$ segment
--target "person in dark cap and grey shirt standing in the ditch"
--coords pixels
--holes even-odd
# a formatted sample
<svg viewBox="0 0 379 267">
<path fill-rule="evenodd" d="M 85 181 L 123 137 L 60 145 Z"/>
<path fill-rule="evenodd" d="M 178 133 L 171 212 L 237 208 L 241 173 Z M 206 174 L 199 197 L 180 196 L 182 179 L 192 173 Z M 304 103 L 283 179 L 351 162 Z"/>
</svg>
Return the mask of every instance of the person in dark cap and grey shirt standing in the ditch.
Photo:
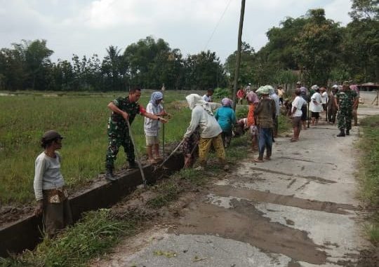
<svg viewBox="0 0 379 267">
<path fill-rule="evenodd" d="M 44 151 L 35 161 L 34 194 L 37 206 L 34 214 L 42 214 L 44 231 L 49 237 L 54 236 L 65 226 L 72 224 L 71 208 L 65 190 L 65 180 L 60 172 L 63 137 L 54 130 L 44 133 L 41 146 Z"/>
</svg>

